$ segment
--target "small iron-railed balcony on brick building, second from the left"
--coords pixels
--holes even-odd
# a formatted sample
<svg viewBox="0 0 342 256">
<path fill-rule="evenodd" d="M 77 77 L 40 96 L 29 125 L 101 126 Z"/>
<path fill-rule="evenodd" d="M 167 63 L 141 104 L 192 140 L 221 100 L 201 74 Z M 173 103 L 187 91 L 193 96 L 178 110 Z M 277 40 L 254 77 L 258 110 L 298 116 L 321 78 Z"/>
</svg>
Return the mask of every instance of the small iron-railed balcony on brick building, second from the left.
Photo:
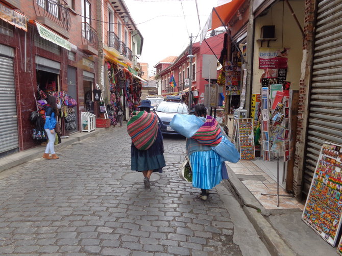
<svg viewBox="0 0 342 256">
<path fill-rule="evenodd" d="M 99 39 L 97 38 L 96 30 L 89 23 L 82 22 L 82 49 L 83 52 L 89 55 L 97 55 L 99 48 Z"/>
</svg>

